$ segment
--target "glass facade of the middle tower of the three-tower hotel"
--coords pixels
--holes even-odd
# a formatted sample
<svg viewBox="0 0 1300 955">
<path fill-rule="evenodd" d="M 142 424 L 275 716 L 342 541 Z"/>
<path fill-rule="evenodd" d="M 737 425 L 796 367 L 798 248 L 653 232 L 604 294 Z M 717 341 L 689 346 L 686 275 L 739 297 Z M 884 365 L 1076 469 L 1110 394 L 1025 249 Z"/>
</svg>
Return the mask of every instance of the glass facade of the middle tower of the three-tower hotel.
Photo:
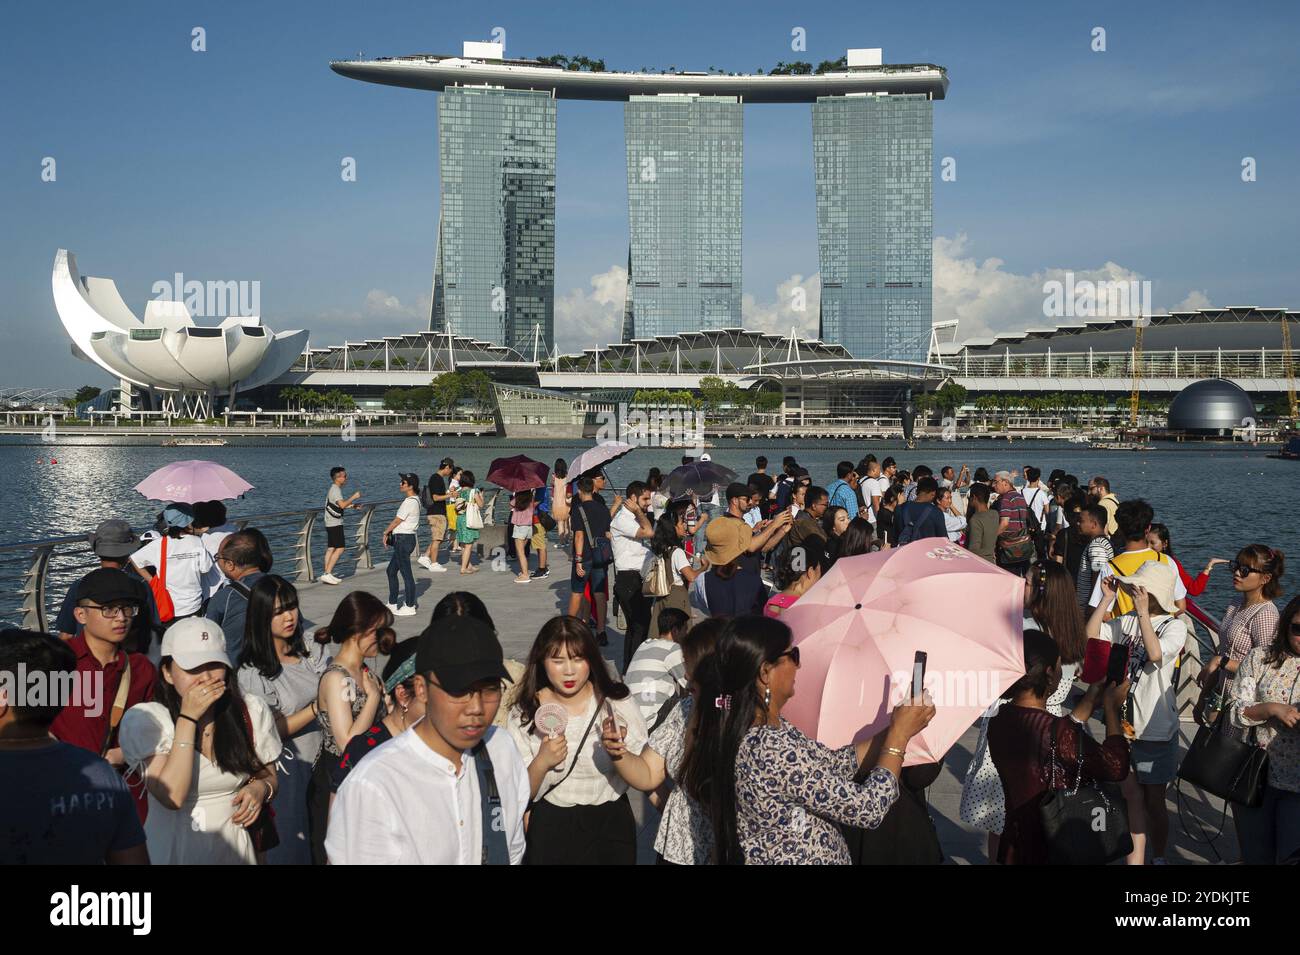
<svg viewBox="0 0 1300 955">
<path fill-rule="evenodd" d="M 740 327 L 744 105 L 630 96 L 623 340 Z"/>
</svg>

